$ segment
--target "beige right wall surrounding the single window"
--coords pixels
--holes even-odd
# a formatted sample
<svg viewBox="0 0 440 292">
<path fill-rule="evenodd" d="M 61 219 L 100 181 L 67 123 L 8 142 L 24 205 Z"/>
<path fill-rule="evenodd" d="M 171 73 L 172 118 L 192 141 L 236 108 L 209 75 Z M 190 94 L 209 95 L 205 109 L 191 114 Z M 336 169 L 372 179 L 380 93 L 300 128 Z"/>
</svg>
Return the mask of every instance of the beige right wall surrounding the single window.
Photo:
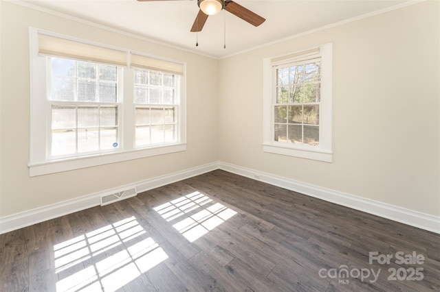
<svg viewBox="0 0 440 292">
<path fill-rule="evenodd" d="M 221 60 L 219 158 L 440 215 L 439 1 Z M 263 58 L 333 43 L 333 163 L 264 153 Z"/>
</svg>

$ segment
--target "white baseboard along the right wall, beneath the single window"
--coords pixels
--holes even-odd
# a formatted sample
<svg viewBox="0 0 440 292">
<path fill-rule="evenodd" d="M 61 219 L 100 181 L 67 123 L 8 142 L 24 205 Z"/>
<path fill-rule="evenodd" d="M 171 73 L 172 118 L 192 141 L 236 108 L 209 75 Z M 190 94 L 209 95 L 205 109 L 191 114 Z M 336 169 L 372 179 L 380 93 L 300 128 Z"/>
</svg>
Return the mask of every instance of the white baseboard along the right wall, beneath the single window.
<svg viewBox="0 0 440 292">
<path fill-rule="evenodd" d="M 219 169 L 440 234 L 440 217 L 377 202 L 372 199 L 365 199 L 363 197 L 333 191 L 321 186 L 290 180 L 254 169 L 231 165 L 225 162 L 219 162 Z"/>
</svg>

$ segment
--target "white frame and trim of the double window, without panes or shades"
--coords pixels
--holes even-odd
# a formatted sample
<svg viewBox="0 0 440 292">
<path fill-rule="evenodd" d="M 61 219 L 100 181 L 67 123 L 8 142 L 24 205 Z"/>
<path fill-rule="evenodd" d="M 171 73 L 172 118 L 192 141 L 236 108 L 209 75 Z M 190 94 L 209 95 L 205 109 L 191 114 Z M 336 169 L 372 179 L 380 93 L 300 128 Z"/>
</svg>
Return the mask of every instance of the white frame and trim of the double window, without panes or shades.
<svg viewBox="0 0 440 292">
<path fill-rule="evenodd" d="M 114 151 L 102 151 L 95 154 L 85 154 L 74 157 L 49 159 L 50 147 L 50 101 L 47 97 L 50 92 L 50 73 L 47 68 L 47 58 L 39 56 L 39 34 L 46 34 L 75 42 L 83 42 L 89 45 L 102 46 L 109 49 L 125 51 L 127 54 L 127 66 L 118 66 L 118 119 L 119 119 L 119 147 Z M 177 140 L 175 143 L 156 144 L 147 147 L 135 147 L 135 108 L 134 108 L 134 68 L 130 66 L 129 56 L 135 53 L 137 56 L 145 56 L 159 62 L 175 63 L 183 67 L 183 74 L 180 75 L 179 100 L 177 101 L 176 117 Z M 56 57 L 56 56 L 55 56 Z M 65 57 L 58 57 L 65 58 Z M 80 60 L 80 59 L 77 59 Z M 84 60 L 80 60 L 84 61 Z M 94 61 L 95 62 L 95 61 Z M 99 62 L 98 62 L 99 63 Z M 108 63 L 103 63 L 108 64 Z M 122 69 L 121 69 L 122 68 Z M 120 73 L 122 72 L 122 73 Z M 166 72 L 166 71 L 164 71 Z M 167 72 L 168 73 L 168 72 Z M 113 149 L 111 149 L 113 150 Z M 149 156 L 170 154 L 178 151 L 186 151 L 186 64 L 175 60 L 149 56 L 140 52 L 133 52 L 129 49 L 110 47 L 89 40 L 72 38 L 69 36 L 46 32 L 41 29 L 30 27 L 30 157 L 28 162 L 30 177 L 83 169 L 98 165 L 106 165 L 114 162 L 122 162 Z"/>
</svg>

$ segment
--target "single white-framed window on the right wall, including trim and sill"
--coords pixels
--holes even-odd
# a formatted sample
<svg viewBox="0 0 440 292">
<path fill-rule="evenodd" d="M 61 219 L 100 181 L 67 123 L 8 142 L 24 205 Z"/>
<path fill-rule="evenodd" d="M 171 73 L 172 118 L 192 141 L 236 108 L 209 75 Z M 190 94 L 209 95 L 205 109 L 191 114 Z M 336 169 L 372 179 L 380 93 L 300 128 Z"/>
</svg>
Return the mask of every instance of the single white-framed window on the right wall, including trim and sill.
<svg viewBox="0 0 440 292">
<path fill-rule="evenodd" d="M 263 151 L 331 162 L 331 44 L 264 60 Z"/>
</svg>

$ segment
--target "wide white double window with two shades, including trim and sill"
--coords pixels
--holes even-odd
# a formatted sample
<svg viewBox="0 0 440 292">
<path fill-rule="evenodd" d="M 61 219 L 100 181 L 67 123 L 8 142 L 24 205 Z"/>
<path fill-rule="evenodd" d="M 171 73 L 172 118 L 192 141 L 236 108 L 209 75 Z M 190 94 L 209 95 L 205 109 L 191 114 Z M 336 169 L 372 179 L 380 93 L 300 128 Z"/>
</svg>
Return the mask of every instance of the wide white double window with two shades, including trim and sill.
<svg viewBox="0 0 440 292">
<path fill-rule="evenodd" d="M 186 149 L 184 64 L 30 29 L 30 175 Z"/>
</svg>

